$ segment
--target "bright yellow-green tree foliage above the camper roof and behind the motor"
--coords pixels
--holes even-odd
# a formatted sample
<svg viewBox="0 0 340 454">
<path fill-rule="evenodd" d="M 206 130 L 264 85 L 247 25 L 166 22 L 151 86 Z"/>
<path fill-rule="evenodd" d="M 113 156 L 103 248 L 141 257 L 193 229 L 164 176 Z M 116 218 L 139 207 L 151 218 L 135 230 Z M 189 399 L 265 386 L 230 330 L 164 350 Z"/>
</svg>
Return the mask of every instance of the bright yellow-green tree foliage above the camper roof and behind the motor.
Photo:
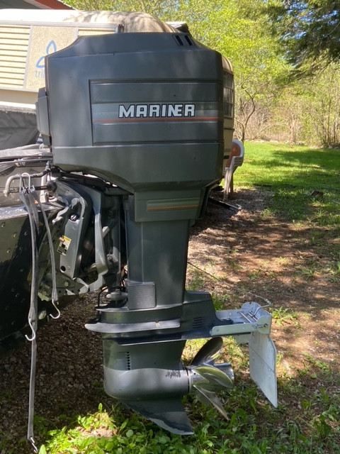
<svg viewBox="0 0 340 454">
<path fill-rule="evenodd" d="M 262 13 L 266 0 L 69 0 L 79 9 L 145 11 L 164 21 L 186 21 L 196 40 L 228 57 L 235 75 L 235 129 L 244 140 L 250 123 L 266 127 L 287 72 Z M 254 122 L 256 117 L 256 122 Z"/>
</svg>

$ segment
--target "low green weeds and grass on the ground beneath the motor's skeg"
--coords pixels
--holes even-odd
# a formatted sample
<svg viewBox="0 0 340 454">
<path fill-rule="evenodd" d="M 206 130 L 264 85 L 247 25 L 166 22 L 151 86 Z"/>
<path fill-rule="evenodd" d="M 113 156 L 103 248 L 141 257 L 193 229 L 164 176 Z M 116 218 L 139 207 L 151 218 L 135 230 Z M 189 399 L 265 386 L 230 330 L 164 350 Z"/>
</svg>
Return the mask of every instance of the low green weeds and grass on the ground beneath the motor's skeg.
<svg viewBox="0 0 340 454">
<path fill-rule="evenodd" d="M 288 384 L 285 395 L 294 386 L 295 382 Z M 300 395 L 298 419 L 289 405 L 275 410 L 261 402 L 256 387 L 249 384 L 244 389 L 235 388 L 224 398 L 228 421 L 217 416 L 214 409 L 186 397 L 184 404 L 191 406 L 195 426 L 191 437 L 166 433 L 140 416 L 127 417 L 120 406 L 115 406 L 110 413 L 101 410 L 79 416 L 73 426 L 51 431 L 40 454 L 339 453 L 339 397 L 331 399 L 326 389 Z"/>
</svg>

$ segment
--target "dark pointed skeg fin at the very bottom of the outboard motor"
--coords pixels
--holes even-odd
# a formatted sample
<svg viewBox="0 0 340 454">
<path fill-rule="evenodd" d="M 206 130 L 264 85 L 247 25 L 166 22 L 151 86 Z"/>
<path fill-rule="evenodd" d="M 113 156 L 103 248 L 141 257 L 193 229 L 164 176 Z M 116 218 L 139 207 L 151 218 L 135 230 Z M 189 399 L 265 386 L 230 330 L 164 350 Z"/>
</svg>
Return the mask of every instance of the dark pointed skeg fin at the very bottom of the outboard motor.
<svg viewBox="0 0 340 454">
<path fill-rule="evenodd" d="M 180 400 L 175 398 L 124 402 L 130 409 L 177 435 L 192 435 L 193 428 Z"/>
</svg>

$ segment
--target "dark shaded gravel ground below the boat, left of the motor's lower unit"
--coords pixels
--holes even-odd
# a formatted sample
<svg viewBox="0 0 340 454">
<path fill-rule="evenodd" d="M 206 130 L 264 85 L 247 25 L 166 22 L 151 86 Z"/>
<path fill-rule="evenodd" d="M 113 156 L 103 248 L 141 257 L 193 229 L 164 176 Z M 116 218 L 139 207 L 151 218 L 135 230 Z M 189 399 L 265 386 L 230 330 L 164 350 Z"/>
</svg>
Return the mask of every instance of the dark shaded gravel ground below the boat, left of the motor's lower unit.
<svg viewBox="0 0 340 454">
<path fill-rule="evenodd" d="M 110 398 L 102 389 L 101 337 L 84 328 L 94 317 L 95 304 L 94 297 L 79 298 L 63 309 L 60 319 L 51 320 L 38 331 L 36 425 L 46 423 L 51 430 L 61 414 L 69 421 L 96 411 L 103 399 L 109 404 Z M 0 453 L 30 453 L 25 443 L 30 343 L 1 357 L 0 370 L 0 442 L 1 438 L 8 441 Z"/>
</svg>

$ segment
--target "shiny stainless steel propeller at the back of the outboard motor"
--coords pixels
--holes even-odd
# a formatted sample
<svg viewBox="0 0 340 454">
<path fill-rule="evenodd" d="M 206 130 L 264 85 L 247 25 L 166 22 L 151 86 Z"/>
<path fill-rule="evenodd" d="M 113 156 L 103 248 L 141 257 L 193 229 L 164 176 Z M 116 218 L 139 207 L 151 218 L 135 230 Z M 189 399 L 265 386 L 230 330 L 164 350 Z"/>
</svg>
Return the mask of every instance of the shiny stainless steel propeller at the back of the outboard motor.
<svg viewBox="0 0 340 454">
<path fill-rule="evenodd" d="M 196 392 L 200 402 L 215 406 L 227 419 L 227 413 L 216 393 L 234 387 L 234 372 L 229 362 L 215 363 L 222 345 L 222 338 L 210 339 L 196 353 L 187 370 L 191 389 Z"/>
</svg>

